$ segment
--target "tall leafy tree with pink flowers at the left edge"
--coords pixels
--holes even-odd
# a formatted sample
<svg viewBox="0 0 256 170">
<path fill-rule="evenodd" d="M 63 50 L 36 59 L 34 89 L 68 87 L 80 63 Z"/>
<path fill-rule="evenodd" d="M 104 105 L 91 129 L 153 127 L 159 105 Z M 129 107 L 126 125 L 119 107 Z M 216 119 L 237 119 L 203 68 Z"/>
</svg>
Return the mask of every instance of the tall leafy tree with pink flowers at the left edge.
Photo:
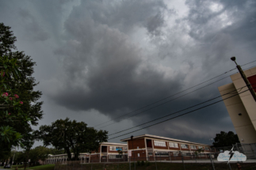
<svg viewBox="0 0 256 170">
<path fill-rule="evenodd" d="M 0 97 L 9 102 L 5 103 L 9 104 L 7 108 L 0 109 L 0 127 L 2 127 L 0 132 L 5 137 L 0 140 L 0 150 L 4 149 L 6 152 L 10 152 L 11 147 L 25 142 L 26 138 L 23 138 L 23 135 L 31 133 L 31 125 L 36 126 L 43 116 L 41 111 L 43 102 L 38 102 L 42 93 L 33 89 L 38 84 L 32 77 L 33 66 L 36 63 L 32 62 L 23 51 L 16 51 L 15 41 L 16 37 L 13 36 L 10 27 L 0 23 L 0 67 L 1 77 L 4 77 L 1 78 Z M 15 101 L 10 100 L 10 94 L 12 99 L 18 94 Z M 21 103 L 17 105 L 17 102 Z M 17 134 L 19 134 L 18 138 Z M 14 137 L 18 140 L 13 140 Z"/>
</svg>

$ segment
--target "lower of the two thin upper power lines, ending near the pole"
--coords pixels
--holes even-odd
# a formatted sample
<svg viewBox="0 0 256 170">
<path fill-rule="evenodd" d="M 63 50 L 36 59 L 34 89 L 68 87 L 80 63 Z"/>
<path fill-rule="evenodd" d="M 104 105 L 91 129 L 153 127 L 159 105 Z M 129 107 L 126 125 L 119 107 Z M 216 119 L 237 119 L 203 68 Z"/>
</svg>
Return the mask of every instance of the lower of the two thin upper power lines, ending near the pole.
<svg viewBox="0 0 256 170">
<path fill-rule="evenodd" d="M 227 77 L 230 77 L 230 76 L 227 76 Z M 218 81 L 222 81 L 222 80 L 224 80 L 224 79 L 227 78 L 227 77 L 221 78 L 221 79 L 218 80 Z M 208 85 L 212 85 L 212 84 L 214 84 L 214 83 L 216 83 L 216 82 L 218 82 L 218 81 L 214 81 L 214 82 L 212 82 L 212 83 L 210 83 L 210 84 L 208 84 Z M 190 93 L 194 93 L 194 92 L 196 92 L 197 90 L 200 90 L 200 89 L 203 89 L 204 87 L 207 87 L 208 85 L 204 85 L 203 87 L 201 87 L 201 88 L 199 88 L 199 89 L 195 89 L 195 90 L 193 90 L 192 92 L 185 93 L 184 95 L 178 96 L 178 97 L 176 97 L 176 98 L 174 98 L 174 99 L 172 99 L 172 100 L 167 100 L 167 101 L 163 102 L 162 104 L 158 104 L 158 105 L 156 105 L 156 106 L 154 106 L 154 107 L 152 107 L 152 108 L 148 108 L 147 110 L 140 111 L 139 113 L 136 113 L 135 115 L 139 115 L 140 113 L 149 111 L 149 110 L 151 110 L 151 109 L 153 109 L 153 108 L 158 108 L 159 106 L 162 106 L 163 104 L 167 104 L 167 103 L 169 103 L 169 102 L 171 102 L 171 101 L 173 101 L 173 100 L 177 100 L 177 99 L 181 98 L 182 96 L 186 96 L 186 95 L 188 95 L 188 94 L 190 94 Z M 124 119 L 129 119 L 129 118 L 131 118 L 131 117 L 133 117 L 133 116 L 135 116 L 135 115 L 131 115 L 131 116 L 129 116 L 128 118 L 124 118 Z M 120 121 L 121 121 L 121 120 L 123 120 L 123 119 L 120 119 Z M 106 125 L 106 126 L 104 126 L 104 127 L 109 127 L 110 125 L 113 125 L 113 124 L 115 124 L 115 123 L 117 123 L 117 122 L 108 124 L 108 125 Z M 103 127 L 100 127 L 100 129 L 101 129 L 101 128 L 103 128 Z"/>
</svg>

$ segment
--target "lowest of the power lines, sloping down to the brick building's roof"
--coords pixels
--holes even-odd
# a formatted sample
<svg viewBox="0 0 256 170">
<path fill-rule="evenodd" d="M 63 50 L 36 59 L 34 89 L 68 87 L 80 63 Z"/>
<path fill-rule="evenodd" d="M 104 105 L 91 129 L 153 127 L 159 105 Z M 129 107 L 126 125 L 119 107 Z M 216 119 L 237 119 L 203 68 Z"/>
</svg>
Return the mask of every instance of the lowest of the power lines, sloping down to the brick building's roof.
<svg viewBox="0 0 256 170">
<path fill-rule="evenodd" d="M 249 89 L 243 91 L 242 93 L 245 93 L 245 92 L 248 91 L 248 90 L 249 90 Z M 233 95 L 233 96 L 237 96 L 237 95 L 239 95 L 239 94 L 241 94 L 241 93 L 235 94 L 235 95 Z M 227 100 L 227 99 L 229 99 L 229 98 L 231 98 L 231 97 L 233 97 L 233 96 L 229 96 L 229 97 L 227 97 L 226 99 L 223 99 L 223 100 L 218 100 L 218 101 L 216 101 L 216 102 L 214 102 L 214 103 L 212 103 L 212 104 L 208 104 L 208 105 L 203 106 L 203 107 L 201 107 L 201 108 L 197 108 L 197 109 L 195 109 L 195 110 L 193 110 L 193 111 L 198 111 L 198 110 L 201 110 L 202 108 L 207 108 L 208 106 L 211 106 L 211 105 L 213 105 L 213 104 L 217 104 L 217 103 L 219 103 L 220 101 Z M 182 115 L 187 115 L 187 114 L 189 114 L 189 113 L 192 113 L 193 111 L 185 112 L 185 113 L 183 113 L 183 114 L 181 114 L 181 115 L 177 115 L 177 116 L 175 116 L 175 117 L 173 117 L 173 118 L 170 118 L 170 119 L 176 119 L 176 118 L 178 118 L 178 117 L 180 117 L 180 116 L 182 116 Z M 149 125 L 149 126 L 147 126 L 147 127 L 153 127 L 153 126 L 155 126 L 155 125 L 157 125 L 157 124 L 164 123 L 164 122 L 166 122 L 166 121 L 168 121 L 168 120 L 170 120 L 170 119 L 163 120 L 163 121 L 161 121 L 161 122 L 159 122 L 159 123 L 155 123 L 155 124 Z M 133 130 L 133 131 L 128 132 L 128 133 L 126 133 L 126 134 L 132 134 L 133 132 L 146 129 L 147 127 L 142 127 L 142 128 L 140 128 L 140 129 L 138 129 L 138 130 Z M 126 134 L 121 134 L 121 135 L 119 135 L 119 136 L 117 136 L 117 137 L 114 137 L 114 138 L 119 138 L 119 137 L 124 136 L 124 135 L 126 135 Z M 109 140 L 111 140 L 111 139 L 113 139 L 113 138 L 109 138 Z"/>
</svg>

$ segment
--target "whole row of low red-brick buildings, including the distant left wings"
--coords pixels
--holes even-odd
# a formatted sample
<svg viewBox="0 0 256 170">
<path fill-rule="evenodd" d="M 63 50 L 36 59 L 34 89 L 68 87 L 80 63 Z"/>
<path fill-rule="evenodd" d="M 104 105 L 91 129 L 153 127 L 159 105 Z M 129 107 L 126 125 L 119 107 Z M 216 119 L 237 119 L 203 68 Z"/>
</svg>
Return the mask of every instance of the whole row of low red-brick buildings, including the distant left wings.
<svg viewBox="0 0 256 170">
<path fill-rule="evenodd" d="M 215 153 L 211 145 L 182 141 L 174 138 L 165 138 L 151 134 L 143 134 L 133 138 L 120 140 L 126 143 L 103 142 L 97 152 L 80 153 L 81 163 L 94 162 L 124 162 L 124 161 L 171 161 L 194 159 L 198 149 L 203 153 L 198 153 L 197 158 L 209 157 L 209 153 Z M 128 157 L 128 151 L 132 157 Z M 72 157 L 74 155 L 72 154 Z M 49 155 L 42 164 L 55 164 L 56 162 L 67 163 L 67 154 Z"/>
</svg>

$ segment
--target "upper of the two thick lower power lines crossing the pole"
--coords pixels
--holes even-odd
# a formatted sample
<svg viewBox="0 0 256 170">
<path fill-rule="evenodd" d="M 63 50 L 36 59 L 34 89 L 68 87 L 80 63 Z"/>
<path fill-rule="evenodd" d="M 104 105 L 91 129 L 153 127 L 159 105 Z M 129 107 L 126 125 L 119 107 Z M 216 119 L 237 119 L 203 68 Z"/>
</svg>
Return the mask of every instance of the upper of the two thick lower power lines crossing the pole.
<svg viewBox="0 0 256 170">
<path fill-rule="evenodd" d="M 243 88 L 245 88 L 245 87 L 246 87 L 246 85 L 243 86 L 242 88 L 239 88 L 239 92 L 240 92 Z M 235 90 L 233 90 L 233 91 L 231 91 L 231 92 L 229 92 L 229 93 L 225 93 L 224 95 L 220 95 L 220 96 L 225 96 L 225 95 L 227 95 L 227 94 L 234 94 L 233 92 L 237 92 L 237 89 L 235 89 Z M 204 101 L 204 102 L 201 102 L 200 104 L 195 104 L 195 105 L 193 105 L 193 106 L 191 106 L 191 107 L 189 107 L 189 108 L 194 108 L 194 107 L 199 106 L 199 105 L 201 105 L 201 104 L 205 104 L 205 103 L 207 103 L 207 102 L 209 102 L 209 101 L 211 101 L 211 100 L 216 100 L 216 99 L 219 98 L 220 96 L 216 96 L 216 97 L 214 97 L 214 98 L 212 98 L 212 99 L 210 99 L 210 100 L 206 100 L 206 101 Z M 168 116 L 170 116 L 170 115 L 177 114 L 177 113 L 179 113 L 179 112 L 181 112 L 181 111 L 188 110 L 189 108 L 185 108 L 185 109 L 182 109 L 182 110 L 180 110 L 180 111 L 175 111 L 174 113 L 170 113 L 169 115 L 164 115 L 164 116 L 162 116 L 162 117 L 160 117 L 160 118 L 153 119 L 153 120 L 151 120 L 151 121 L 149 121 L 149 122 L 147 122 L 147 123 L 155 122 L 156 120 L 163 119 L 163 118 L 168 117 Z M 142 126 L 142 125 L 144 125 L 144 124 L 147 124 L 147 123 L 142 123 L 142 124 L 136 125 L 135 127 L 140 127 L 140 126 Z M 118 131 L 118 132 L 116 132 L 116 133 L 113 133 L 113 134 L 119 134 L 119 133 L 121 133 L 121 132 L 123 132 L 123 131 L 131 130 L 131 129 L 135 128 L 135 127 L 130 127 L 130 128 L 128 128 L 128 129 L 125 129 L 125 130 L 120 130 L 120 131 Z M 111 135 L 113 135 L 113 134 L 109 134 L 108 136 L 111 136 Z"/>
</svg>

